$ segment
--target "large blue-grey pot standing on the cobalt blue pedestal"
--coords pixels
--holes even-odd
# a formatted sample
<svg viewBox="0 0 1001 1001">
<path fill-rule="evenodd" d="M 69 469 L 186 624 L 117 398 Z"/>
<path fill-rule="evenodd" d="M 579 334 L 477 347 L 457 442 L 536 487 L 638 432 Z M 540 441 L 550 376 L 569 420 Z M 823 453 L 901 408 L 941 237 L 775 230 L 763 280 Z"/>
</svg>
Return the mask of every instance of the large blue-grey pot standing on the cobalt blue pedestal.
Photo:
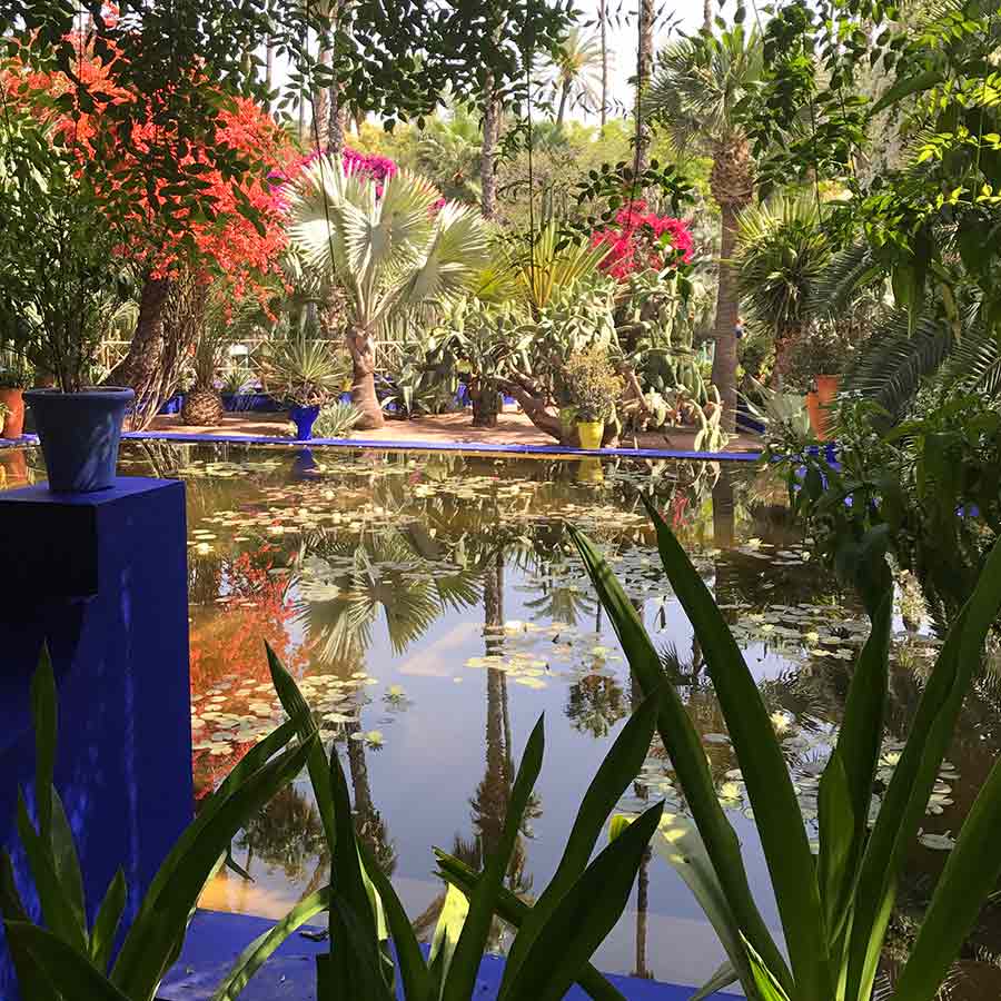
<svg viewBox="0 0 1001 1001">
<path fill-rule="evenodd" d="M 118 446 L 132 389 L 29 389 L 24 403 L 34 415 L 49 473 L 57 494 L 92 494 L 115 482 Z"/>
</svg>

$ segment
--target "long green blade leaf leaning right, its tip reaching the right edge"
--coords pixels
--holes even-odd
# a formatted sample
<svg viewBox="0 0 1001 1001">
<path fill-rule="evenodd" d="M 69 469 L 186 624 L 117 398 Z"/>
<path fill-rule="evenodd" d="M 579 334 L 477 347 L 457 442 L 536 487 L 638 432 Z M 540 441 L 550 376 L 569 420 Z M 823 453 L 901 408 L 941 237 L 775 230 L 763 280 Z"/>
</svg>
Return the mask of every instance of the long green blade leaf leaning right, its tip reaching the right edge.
<svg viewBox="0 0 1001 1001">
<path fill-rule="evenodd" d="M 914 844 L 963 697 L 981 663 L 984 640 L 999 612 L 1001 544 L 995 544 L 973 594 L 949 630 L 924 686 L 911 736 L 894 769 L 862 858 L 852 918 L 846 997 L 864 997 L 864 992 L 872 990 L 901 869 Z"/>
</svg>

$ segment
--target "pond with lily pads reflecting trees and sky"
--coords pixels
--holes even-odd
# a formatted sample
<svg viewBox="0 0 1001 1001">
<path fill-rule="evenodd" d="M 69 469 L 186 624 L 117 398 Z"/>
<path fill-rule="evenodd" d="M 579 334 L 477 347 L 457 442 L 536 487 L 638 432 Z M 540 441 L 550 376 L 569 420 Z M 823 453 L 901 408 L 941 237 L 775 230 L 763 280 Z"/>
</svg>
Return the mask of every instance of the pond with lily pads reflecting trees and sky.
<svg viewBox="0 0 1001 1001">
<path fill-rule="evenodd" d="M 8 486 L 39 475 L 39 463 L 34 450 L 0 452 Z M 429 934 L 443 900 L 432 846 L 470 864 L 490 851 L 513 770 L 545 713 L 545 762 L 508 872 L 508 885 L 531 896 L 552 875 L 581 796 L 637 698 L 569 545 L 566 525 L 575 524 L 604 548 L 674 672 L 752 886 L 777 928 L 726 729 L 638 499 L 641 488 L 655 494 L 714 589 L 782 735 L 813 830 L 817 779 L 868 625 L 851 596 L 811 563 L 784 488 L 766 473 L 744 463 L 157 443 L 126 444 L 120 472 L 187 483 L 197 795 L 283 718 L 268 681 L 267 641 L 301 680 L 324 733 L 338 742 L 360 835 Z M 905 582 L 881 783 L 938 645 L 920 588 Z M 1001 685 L 987 673 L 968 698 L 914 845 L 888 950 L 891 973 L 997 754 L 999 705 Z M 622 807 L 660 797 L 678 804 L 655 743 Z M 278 916 L 327 881 L 305 776 L 237 838 L 232 856 L 252 882 L 224 870 L 205 906 Z M 985 912 L 952 997 L 998 997 L 998 918 Z M 721 959 L 684 884 L 653 858 L 596 962 L 697 983 Z"/>
</svg>

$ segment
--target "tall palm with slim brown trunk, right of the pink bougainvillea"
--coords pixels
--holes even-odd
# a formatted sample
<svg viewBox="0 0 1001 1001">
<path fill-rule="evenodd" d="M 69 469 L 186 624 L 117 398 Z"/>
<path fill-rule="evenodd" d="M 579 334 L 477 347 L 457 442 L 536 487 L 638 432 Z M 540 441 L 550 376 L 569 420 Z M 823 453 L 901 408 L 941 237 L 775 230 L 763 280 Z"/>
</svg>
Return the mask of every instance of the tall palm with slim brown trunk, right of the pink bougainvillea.
<svg viewBox="0 0 1001 1001">
<path fill-rule="evenodd" d="M 693 147 L 713 160 L 710 187 L 720 206 L 720 284 L 716 297 L 716 350 L 712 380 L 724 407 L 724 428 L 736 424 L 736 324 L 740 300 L 736 269 L 737 217 L 754 197 L 751 145 L 737 105 L 761 76 L 762 46 L 756 31 L 741 26 L 720 38 L 698 34 L 670 44 L 661 54 L 645 101 L 645 115 L 662 121 L 678 151 Z"/>
</svg>

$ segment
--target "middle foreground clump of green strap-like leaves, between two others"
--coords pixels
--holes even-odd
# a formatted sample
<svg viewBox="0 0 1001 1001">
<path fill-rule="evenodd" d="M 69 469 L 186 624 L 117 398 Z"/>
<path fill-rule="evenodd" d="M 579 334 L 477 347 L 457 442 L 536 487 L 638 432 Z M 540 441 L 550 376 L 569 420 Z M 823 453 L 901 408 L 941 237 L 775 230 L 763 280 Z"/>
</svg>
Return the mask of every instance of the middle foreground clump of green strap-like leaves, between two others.
<svg viewBox="0 0 1001 1001">
<path fill-rule="evenodd" d="M 542 767 L 545 737 L 543 721 L 538 721 L 512 787 L 497 852 L 486 860 L 483 872 L 472 871 L 444 852 L 436 853 L 439 875 L 449 884 L 449 892 L 425 960 L 389 880 L 356 836 L 336 746 L 328 760 L 314 740 L 315 724 L 291 675 L 270 650 L 268 658 L 281 703 L 301 721 L 300 734 L 310 747 L 309 777 L 331 845 L 331 883 L 337 893 L 326 898 L 314 894 L 251 943 L 212 1001 L 232 1001 L 278 945 L 324 910 L 329 912 L 330 951 L 317 957 L 318 1001 L 392 1001 L 397 997 L 405 1001 L 472 1001 L 495 914 L 517 930 L 499 1001 L 559 1001 L 575 981 L 598 1001 L 624 1001 L 589 965 L 589 959 L 625 909 L 663 804 L 647 810 L 588 862 L 605 821 L 647 754 L 658 693 L 643 702 L 613 744 L 584 796 L 555 875 L 529 906 L 507 891 L 503 880 Z"/>
</svg>

